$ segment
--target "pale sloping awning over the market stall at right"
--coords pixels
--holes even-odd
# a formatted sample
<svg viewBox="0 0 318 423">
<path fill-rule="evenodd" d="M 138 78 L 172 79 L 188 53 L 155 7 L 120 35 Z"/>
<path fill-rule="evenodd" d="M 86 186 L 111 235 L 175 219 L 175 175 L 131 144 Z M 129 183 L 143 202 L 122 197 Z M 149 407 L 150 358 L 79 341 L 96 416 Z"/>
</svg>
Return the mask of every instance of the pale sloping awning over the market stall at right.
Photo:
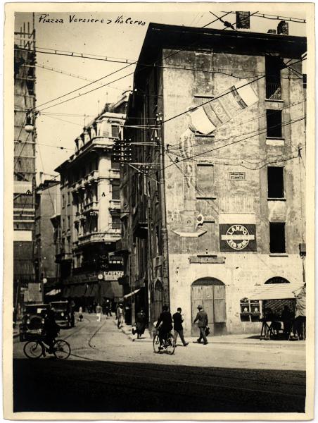
<svg viewBox="0 0 318 423">
<path fill-rule="evenodd" d="M 255 291 L 248 296 L 248 300 L 293 300 L 294 291 L 303 286 L 299 283 L 268 283 L 258 286 Z"/>
</svg>

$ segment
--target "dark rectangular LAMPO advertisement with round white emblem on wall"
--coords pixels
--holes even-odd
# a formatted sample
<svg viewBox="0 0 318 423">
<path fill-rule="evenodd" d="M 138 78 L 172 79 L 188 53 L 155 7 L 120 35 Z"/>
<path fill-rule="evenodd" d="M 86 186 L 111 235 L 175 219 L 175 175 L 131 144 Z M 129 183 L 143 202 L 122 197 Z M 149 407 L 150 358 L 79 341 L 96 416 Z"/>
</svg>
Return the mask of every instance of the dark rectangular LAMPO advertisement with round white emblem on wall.
<svg viewBox="0 0 318 423">
<path fill-rule="evenodd" d="M 256 225 L 220 224 L 220 251 L 256 251 Z"/>
</svg>

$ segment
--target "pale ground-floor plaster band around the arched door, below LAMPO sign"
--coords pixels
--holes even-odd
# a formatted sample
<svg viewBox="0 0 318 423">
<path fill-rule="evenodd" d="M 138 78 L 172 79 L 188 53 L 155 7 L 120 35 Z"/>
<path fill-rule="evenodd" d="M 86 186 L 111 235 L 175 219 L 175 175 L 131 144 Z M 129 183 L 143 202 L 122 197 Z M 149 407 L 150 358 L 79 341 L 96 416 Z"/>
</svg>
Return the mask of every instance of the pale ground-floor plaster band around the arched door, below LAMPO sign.
<svg viewBox="0 0 318 423">
<path fill-rule="evenodd" d="M 207 276 L 220 279 L 225 285 L 227 333 L 260 333 L 261 324 L 241 321 L 240 300 L 248 298 L 257 286 L 274 276 L 297 283 L 303 278 L 299 255 L 269 257 L 269 255 L 224 253 L 224 264 L 190 264 L 189 255 L 170 255 L 171 309 L 182 307 L 184 330 L 191 336 L 191 284 Z"/>
</svg>

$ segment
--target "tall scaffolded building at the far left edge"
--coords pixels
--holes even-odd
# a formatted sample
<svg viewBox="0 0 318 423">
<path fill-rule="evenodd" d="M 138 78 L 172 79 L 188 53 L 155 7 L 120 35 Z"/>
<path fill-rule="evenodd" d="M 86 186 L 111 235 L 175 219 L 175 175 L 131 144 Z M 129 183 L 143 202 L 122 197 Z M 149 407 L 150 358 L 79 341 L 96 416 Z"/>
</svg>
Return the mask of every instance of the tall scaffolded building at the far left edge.
<svg viewBox="0 0 318 423">
<path fill-rule="evenodd" d="M 20 314 L 25 302 L 41 300 L 35 281 L 34 203 L 35 29 L 23 24 L 14 32 L 14 171 L 13 171 L 13 305 Z"/>
</svg>

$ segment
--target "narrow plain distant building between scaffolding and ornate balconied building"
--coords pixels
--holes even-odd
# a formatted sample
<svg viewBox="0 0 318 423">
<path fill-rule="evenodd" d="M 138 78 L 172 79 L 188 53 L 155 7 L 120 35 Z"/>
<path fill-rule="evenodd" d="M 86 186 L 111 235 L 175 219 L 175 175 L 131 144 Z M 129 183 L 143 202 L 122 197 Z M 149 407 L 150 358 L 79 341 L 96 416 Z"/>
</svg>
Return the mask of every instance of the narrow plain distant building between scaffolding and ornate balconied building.
<svg viewBox="0 0 318 423">
<path fill-rule="evenodd" d="M 42 173 L 40 178 L 35 197 L 34 271 L 42 300 L 46 302 L 61 293 L 59 267 L 55 261 L 56 234 L 52 226 L 52 217 L 57 216 L 61 207 L 61 190 L 56 178 L 44 179 Z"/>
</svg>

